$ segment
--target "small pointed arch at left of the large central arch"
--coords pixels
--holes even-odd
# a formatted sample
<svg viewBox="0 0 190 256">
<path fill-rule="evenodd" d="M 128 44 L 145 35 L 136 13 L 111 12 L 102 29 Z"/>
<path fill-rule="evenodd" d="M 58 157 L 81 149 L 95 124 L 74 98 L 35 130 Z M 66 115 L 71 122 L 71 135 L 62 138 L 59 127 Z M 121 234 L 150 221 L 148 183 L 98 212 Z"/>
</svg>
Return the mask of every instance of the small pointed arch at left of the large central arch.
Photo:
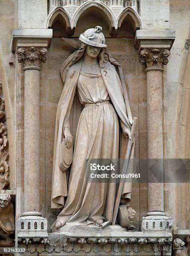
<svg viewBox="0 0 190 256">
<path fill-rule="evenodd" d="M 62 6 L 56 7 L 54 10 L 52 10 L 51 13 L 47 16 L 47 28 L 52 27 L 52 23 L 57 17 L 57 15 L 61 15 L 62 18 L 65 20 L 66 26 L 67 26 L 67 34 L 72 34 L 72 27 L 71 27 L 71 20 L 68 15 L 68 13 L 64 10 Z"/>
</svg>

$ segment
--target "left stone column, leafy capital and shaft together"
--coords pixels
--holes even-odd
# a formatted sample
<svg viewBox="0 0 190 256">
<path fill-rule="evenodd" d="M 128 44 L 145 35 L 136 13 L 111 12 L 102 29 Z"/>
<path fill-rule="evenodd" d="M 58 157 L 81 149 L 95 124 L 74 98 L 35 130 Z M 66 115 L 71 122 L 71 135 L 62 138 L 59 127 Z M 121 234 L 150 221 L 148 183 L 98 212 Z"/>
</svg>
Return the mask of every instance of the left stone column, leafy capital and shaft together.
<svg viewBox="0 0 190 256">
<path fill-rule="evenodd" d="M 19 48 L 24 63 L 24 209 L 40 210 L 40 70 L 45 48 Z M 31 215 L 31 213 L 30 213 Z"/>
</svg>

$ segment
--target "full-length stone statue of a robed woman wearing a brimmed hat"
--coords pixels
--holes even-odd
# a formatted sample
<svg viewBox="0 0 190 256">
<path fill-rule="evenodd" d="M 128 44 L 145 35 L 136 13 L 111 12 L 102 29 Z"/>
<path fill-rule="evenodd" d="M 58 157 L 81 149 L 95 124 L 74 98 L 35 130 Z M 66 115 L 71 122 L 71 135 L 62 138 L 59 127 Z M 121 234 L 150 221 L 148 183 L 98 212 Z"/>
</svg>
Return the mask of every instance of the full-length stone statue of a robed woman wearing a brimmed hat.
<svg viewBox="0 0 190 256">
<path fill-rule="evenodd" d="M 125 82 L 115 69 L 120 64 L 106 52 L 102 28 L 87 29 L 79 40 L 60 68 L 51 207 L 63 209 L 52 228 L 115 225 L 119 205 L 131 196 L 131 183 L 117 188 L 85 180 L 89 159 L 133 158 L 135 139 Z"/>
</svg>

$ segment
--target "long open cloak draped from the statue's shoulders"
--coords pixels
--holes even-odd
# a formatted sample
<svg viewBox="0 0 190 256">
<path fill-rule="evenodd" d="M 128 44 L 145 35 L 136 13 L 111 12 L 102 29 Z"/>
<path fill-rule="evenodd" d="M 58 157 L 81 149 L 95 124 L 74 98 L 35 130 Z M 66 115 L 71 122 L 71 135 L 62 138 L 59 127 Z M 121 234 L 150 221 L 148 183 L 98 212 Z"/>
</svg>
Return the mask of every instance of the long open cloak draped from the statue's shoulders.
<svg viewBox="0 0 190 256">
<path fill-rule="evenodd" d="M 80 111 L 82 110 L 79 100 L 75 97 L 77 81 L 80 74 L 80 69 L 82 65 L 82 60 L 80 59 L 75 64 L 73 64 L 68 70 L 66 74 L 66 79 L 63 77 L 62 72 L 62 80 L 65 80 L 62 95 L 60 97 L 60 101 L 57 107 L 57 115 L 56 115 L 56 123 L 55 123 L 55 142 L 54 142 L 54 156 L 53 156 L 53 176 L 52 176 L 52 202 L 51 208 L 61 208 L 64 206 L 64 197 L 67 197 L 67 181 L 68 181 L 68 172 L 62 172 L 59 168 L 59 148 L 60 143 L 62 141 L 62 133 L 64 131 L 65 126 L 67 126 L 67 122 L 70 119 L 70 123 L 73 118 L 77 117 L 78 120 L 80 117 Z M 104 80 L 107 92 L 109 94 L 112 105 L 114 106 L 118 117 L 124 125 L 128 128 L 131 127 L 127 110 L 125 106 L 125 101 L 122 93 L 122 85 L 120 79 L 117 75 L 115 67 L 110 64 L 110 62 L 105 62 L 101 64 L 100 72 L 102 78 Z M 78 107 L 76 107 L 78 106 Z M 73 114 L 74 112 L 78 112 L 77 115 Z M 76 121 L 76 120 L 75 120 Z M 74 122 L 75 123 L 75 122 Z M 75 140 L 76 133 L 76 124 L 72 125 L 71 133 Z M 122 135 L 123 136 L 123 135 Z M 123 148 L 126 148 L 126 144 L 128 139 L 122 140 L 122 147 L 120 147 L 120 157 L 122 155 Z M 72 185 L 72 184 L 70 184 Z M 125 183 L 122 190 L 122 200 L 129 202 L 130 201 L 130 192 L 131 192 L 131 183 Z M 114 199 L 113 199 L 114 200 Z"/>
</svg>

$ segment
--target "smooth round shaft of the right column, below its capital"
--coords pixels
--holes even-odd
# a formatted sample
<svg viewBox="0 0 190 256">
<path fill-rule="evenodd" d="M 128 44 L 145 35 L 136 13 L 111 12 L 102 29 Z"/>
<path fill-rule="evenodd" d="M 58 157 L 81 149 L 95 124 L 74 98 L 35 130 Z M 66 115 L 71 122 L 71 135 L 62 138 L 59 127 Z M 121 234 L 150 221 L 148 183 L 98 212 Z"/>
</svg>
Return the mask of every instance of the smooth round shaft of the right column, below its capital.
<svg viewBox="0 0 190 256">
<path fill-rule="evenodd" d="M 148 159 L 158 160 L 159 176 L 163 172 L 162 70 L 147 71 Z M 163 183 L 148 183 L 148 211 L 163 211 Z"/>
</svg>

